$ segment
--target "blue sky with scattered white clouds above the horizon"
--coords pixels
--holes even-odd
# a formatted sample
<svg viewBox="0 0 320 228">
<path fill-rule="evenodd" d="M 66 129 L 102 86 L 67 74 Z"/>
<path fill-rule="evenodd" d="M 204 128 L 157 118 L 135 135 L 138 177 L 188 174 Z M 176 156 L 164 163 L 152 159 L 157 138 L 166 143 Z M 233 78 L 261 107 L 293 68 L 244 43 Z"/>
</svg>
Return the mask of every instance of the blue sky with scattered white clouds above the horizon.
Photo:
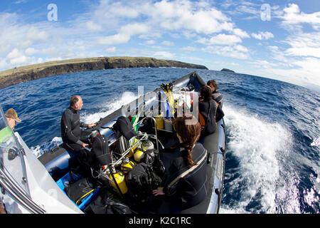
<svg viewBox="0 0 320 228">
<path fill-rule="evenodd" d="M 0 71 L 144 56 L 320 92 L 319 0 L 1 0 Z"/>
</svg>

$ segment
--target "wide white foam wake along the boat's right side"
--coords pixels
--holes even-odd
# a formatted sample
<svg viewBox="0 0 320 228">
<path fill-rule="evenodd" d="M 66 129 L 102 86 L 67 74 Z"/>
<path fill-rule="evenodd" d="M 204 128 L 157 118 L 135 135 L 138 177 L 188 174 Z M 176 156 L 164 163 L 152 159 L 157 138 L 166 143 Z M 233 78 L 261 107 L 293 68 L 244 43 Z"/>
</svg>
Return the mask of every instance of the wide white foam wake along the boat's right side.
<svg viewBox="0 0 320 228">
<path fill-rule="evenodd" d="M 220 213 L 275 213 L 279 200 L 276 197 L 286 198 L 288 187 L 297 189 L 290 180 L 279 186 L 279 180 L 287 178 L 280 175 L 284 172 L 282 162 L 289 153 L 291 134 L 279 123 L 262 120 L 247 110 L 228 105 L 223 109 L 229 138 L 226 156 L 232 153 L 239 162 L 238 167 L 225 174 L 225 180 L 232 182 L 228 183 L 228 192 L 223 193 L 228 198 L 235 194 L 240 199 L 233 200 L 232 205 L 222 204 Z M 296 199 L 292 200 L 290 204 L 296 204 Z"/>
</svg>

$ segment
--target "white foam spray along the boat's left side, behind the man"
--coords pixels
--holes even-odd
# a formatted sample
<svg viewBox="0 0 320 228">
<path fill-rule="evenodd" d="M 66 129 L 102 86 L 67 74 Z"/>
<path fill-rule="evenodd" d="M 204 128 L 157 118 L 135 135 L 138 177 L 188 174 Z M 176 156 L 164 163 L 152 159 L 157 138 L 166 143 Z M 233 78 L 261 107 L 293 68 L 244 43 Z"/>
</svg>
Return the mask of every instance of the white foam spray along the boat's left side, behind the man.
<svg viewBox="0 0 320 228">
<path fill-rule="evenodd" d="M 122 107 L 127 103 L 130 103 L 132 100 L 137 99 L 137 95 L 132 92 L 124 92 L 121 96 L 112 98 L 111 100 L 106 101 L 106 103 L 99 105 L 101 110 L 99 113 L 86 114 L 80 113 L 80 119 L 85 123 L 95 123 L 100 118 L 105 118 L 110 113 Z M 61 137 L 55 137 L 50 142 L 45 142 L 43 145 L 37 145 L 36 147 L 30 147 L 30 150 L 33 152 L 36 157 L 40 157 L 44 152 L 51 150 L 53 147 L 60 145 L 62 143 Z"/>
</svg>

